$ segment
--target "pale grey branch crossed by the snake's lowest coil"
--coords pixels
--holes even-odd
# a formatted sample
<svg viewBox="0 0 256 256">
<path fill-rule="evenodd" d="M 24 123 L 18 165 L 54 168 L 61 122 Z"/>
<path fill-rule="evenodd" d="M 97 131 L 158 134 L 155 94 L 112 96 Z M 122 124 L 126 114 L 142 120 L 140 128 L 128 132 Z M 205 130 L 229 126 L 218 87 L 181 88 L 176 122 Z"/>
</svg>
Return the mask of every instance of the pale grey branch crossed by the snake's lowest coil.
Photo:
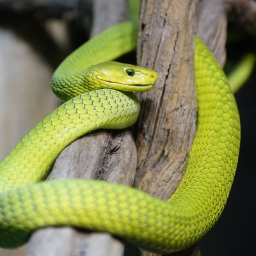
<svg viewBox="0 0 256 256">
<path fill-rule="evenodd" d="M 120 6 L 120 0 L 118 4 Z M 120 10 L 124 9 L 120 8 Z M 106 15 L 104 25 L 108 22 L 110 15 L 117 15 L 117 13 L 111 13 L 111 9 L 104 13 L 97 13 L 98 11 L 95 8 L 93 16 L 97 19 L 100 15 Z M 112 26 L 113 23 L 110 25 Z M 100 29 L 97 28 L 97 31 Z M 131 132 L 101 131 L 87 134 L 65 148 L 56 160 L 49 179 L 79 177 L 108 180 L 131 186 L 135 170 L 136 147 Z M 124 253 L 124 244 L 109 234 L 87 233 L 69 227 L 49 227 L 33 233 L 26 255 L 70 256 L 84 255 L 84 252 L 86 255 L 121 256 Z"/>
</svg>

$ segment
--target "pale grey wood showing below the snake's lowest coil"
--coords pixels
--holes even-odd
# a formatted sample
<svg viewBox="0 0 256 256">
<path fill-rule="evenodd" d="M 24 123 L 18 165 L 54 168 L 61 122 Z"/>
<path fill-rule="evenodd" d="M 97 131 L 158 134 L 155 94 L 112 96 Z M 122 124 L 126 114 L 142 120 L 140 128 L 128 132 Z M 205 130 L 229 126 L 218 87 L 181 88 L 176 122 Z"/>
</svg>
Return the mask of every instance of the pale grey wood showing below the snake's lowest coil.
<svg viewBox="0 0 256 256">
<path fill-rule="evenodd" d="M 36 231 L 36 236 L 32 238 L 36 246 L 29 246 L 29 253 L 34 256 L 42 255 L 42 251 L 46 252 L 47 256 L 101 256 L 116 255 L 123 251 L 122 243 L 118 239 L 113 239 L 109 234 L 84 234 L 68 227 L 59 227 L 55 230 L 56 232 L 51 228 L 46 228 Z M 45 244 L 49 245 L 46 249 Z M 111 246 L 108 246 L 109 244 Z"/>
</svg>

